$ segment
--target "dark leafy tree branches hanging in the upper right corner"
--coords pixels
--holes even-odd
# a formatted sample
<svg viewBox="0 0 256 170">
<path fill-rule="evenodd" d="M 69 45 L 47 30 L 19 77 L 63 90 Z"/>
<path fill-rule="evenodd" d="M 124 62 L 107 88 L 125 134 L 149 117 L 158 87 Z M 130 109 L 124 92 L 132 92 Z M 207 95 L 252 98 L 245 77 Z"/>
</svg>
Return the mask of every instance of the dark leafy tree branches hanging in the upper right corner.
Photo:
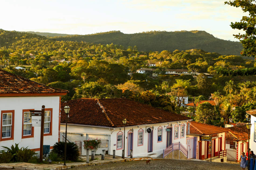
<svg viewBox="0 0 256 170">
<path fill-rule="evenodd" d="M 249 12 L 249 16 L 243 16 L 240 22 L 231 22 L 231 28 L 245 31 L 245 34 L 236 34 L 235 38 L 239 39 L 244 50 L 241 54 L 244 56 L 256 56 L 256 4 L 255 0 L 230 0 L 225 4 L 240 7 L 244 13 Z"/>
</svg>

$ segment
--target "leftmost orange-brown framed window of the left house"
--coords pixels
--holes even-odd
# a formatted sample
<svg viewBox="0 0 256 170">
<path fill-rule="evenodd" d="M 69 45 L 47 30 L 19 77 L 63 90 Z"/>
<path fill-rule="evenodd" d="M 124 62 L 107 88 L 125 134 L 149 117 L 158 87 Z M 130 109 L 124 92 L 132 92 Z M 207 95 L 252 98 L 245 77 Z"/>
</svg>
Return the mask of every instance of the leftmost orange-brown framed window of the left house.
<svg viewBox="0 0 256 170">
<path fill-rule="evenodd" d="M 0 124 L 0 140 L 12 140 L 14 138 L 14 110 L 2 110 Z"/>
</svg>

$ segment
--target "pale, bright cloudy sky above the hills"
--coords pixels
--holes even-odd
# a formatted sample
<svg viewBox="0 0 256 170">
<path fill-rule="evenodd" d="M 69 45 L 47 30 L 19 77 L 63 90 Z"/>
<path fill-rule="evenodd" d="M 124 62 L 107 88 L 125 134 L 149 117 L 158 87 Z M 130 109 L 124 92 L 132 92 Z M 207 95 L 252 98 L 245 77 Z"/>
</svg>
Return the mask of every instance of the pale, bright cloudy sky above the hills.
<svg viewBox="0 0 256 170">
<path fill-rule="evenodd" d="M 246 14 L 226 0 L 0 0 L 0 29 L 61 34 L 200 30 L 237 41 Z"/>
</svg>

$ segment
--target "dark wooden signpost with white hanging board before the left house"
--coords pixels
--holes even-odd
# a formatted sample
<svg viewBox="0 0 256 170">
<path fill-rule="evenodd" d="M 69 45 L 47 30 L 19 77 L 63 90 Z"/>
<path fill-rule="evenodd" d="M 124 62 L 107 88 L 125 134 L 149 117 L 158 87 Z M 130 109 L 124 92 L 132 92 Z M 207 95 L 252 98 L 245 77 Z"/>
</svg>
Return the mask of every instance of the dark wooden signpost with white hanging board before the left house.
<svg viewBox="0 0 256 170">
<path fill-rule="evenodd" d="M 41 110 L 29 110 L 32 113 L 32 126 L 33 122 L 35 127 L 40 127 L 41 126 L 41 134 L 40 134 L 40 162 L 42 163 L 43 159 L 43 130 L 44 130 L 44 111 L 45 111 L 45 106 L 42 105 Z M 41 118 L 39 118 L 41 117 Z M 34 119 L 34 121 L 33 121 Z M 40 124 L 40 126 L 39 126 Z"/>
</svg>

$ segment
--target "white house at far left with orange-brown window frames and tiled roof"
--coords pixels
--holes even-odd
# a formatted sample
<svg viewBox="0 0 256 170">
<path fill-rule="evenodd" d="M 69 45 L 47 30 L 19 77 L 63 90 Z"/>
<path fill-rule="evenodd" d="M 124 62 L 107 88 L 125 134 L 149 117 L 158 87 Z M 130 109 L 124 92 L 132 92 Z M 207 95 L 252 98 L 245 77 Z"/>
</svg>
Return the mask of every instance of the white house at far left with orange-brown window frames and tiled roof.
<svg viewBox="0 0 256 170">
<path fill-rule="evenodd" d="M 60 99 L 67 92 L 0 70 L 0 146 L 19 143 L 39 151 L 40 127 L 32 127 L 29 110 L 45 105 L 44 145 L 52 147 L 59 140 Z"/>
</svg>

